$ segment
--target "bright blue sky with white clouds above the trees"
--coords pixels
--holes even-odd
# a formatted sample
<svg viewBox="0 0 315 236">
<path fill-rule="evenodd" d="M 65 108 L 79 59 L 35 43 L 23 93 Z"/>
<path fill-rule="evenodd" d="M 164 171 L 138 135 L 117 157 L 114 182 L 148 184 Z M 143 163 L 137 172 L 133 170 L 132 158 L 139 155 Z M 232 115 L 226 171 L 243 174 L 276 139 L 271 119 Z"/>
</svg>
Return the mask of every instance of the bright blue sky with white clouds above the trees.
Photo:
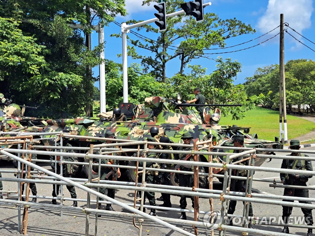
<svg viewBox="0 0 315 236">
<path fill-rule="evenodd" d="M 188 0 L 187 0 L 188 2 Z M 300 33 L 309 42 L 292 29 L 288 28 L 288 32 L 296 39 L 306 44 L 308 47 L 315 51 L 315 37 L 314 37 L 314 2 L 312 0 L 204 0 L 204 3 L 211 2 L 211 6 L 204 8 L 204 12 L 214 12 L 218 14 L 221 19 L 236 18 L 243 23 L 250 24 L 256 29 L 255 34 L 242 35 L 226 40 L 226 47 L 233 46 L 239 43 L 243 43 L 259 37 L 266 32 L 276 28 L 280 25 L 280 14 L 284 14 L 284 21 L 289 24 L 289 27 Z M 150 6 L 141 6 L 141 0 L 126 0 L 126 9 L 129 15 L 122 17 L 118 16 L 115 20 L 122 23 L 127 20 L 149 20 L 154 18 L 154 13 L 157 11 Z M 154 23 L 152 25 L 156 26 Z M 119 26 L 111 23 L 104 28 L 105 31 L 105 58 L 122 63 L 122 58 L 118 58 L 117 54 L 122 53 L 122 40 L 121 38 L 110 37 L 112 33 L 120 33 Z M 136 31 L 136 29 L 134 29 Z M 146 31 L 139 31 L 143 36 L 155 39 L 158 35 L 148 34 Z M 279 33 L 279 28 L 268 33 L 265 37 L 261 37 L 253 42 L 243 44 L 234 48 L 216 50 L 215 52 L 228 52 L 248 48 L 265 41 Z M 132 34 L 129 37 L 136 39 Z M 300 42 L 295 40 L 288 33 L 285 33 L 285 62 L 290 59 L 312 59 L 314 60 L 315 52 Z M 98 43 L 97 33 L 92 35 L 92 42 L 94 45 Z M 129 45 L 131 45 L 129 43 Z M 139 53 L 147 53 L 146 50 L 137 49 Z M 206 51 L 205 51 L 206 52 Z M 209 51 L 208 51 L 209 52 Z M 213 52 L 213 51 L 210 51 Z M 235 80 L 235 84 L 245 82 L 246 77 L 253 76 L 255 70 L 258 67 L 263 67 L 271 64 L 279 64 L 279 35 L 273 39 L 261 43 L 260 45 L 242 50 L 234 53 L 225 53 L 221 55 L 213 55 L 213 59 L 217 56 L 223 58 L 231 58 L 237 60 L 242 64 L 242 72 L 240 72 Z M 166 75 L 168 77 L 173 76 L 180 69 L 179 60 L 166 65 Z M 140 61 L 132 60 L 128 57 L 128 64 L 140 63 Z M 207 73 L 211 74 L 216 69 L 215 61 L 209 59 L 195 59 L 191 62 L 192 65 L 202 65 L 206 67 Z M 95 75 L 98 75 L 98 68 L 94 68 Z M 185 70 L 188 72 L 188 69 Z"/>
</svg>

